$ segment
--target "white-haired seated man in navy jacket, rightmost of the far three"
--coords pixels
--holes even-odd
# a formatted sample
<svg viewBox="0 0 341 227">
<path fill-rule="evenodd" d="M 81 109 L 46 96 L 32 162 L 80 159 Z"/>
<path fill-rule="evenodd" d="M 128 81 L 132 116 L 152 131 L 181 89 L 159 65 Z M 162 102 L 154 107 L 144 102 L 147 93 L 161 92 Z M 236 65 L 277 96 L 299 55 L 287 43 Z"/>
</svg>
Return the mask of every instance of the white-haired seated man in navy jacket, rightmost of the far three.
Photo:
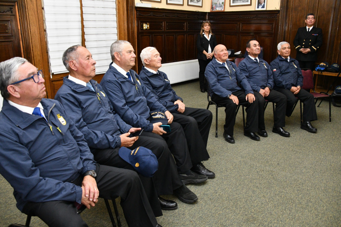
<svg viewBox="0 0 341 227">
<path fill-rule="evenodd" d="M 296 97 L 303 102 L 303 123 L 301 128 L 308 132 L 317 132 L 311 125 L 311 121 L 317 120 L 314 96 L 301 89 L 303 86 L 302 71 L 296 59 L 290 57 L 290 44 L 280 42 L 277 45 L 278 57 L 270 63 L 270 68 L 275 81 L 275 89 L 287 97 L 286 116 L 290 117 Z"/>
</svg>

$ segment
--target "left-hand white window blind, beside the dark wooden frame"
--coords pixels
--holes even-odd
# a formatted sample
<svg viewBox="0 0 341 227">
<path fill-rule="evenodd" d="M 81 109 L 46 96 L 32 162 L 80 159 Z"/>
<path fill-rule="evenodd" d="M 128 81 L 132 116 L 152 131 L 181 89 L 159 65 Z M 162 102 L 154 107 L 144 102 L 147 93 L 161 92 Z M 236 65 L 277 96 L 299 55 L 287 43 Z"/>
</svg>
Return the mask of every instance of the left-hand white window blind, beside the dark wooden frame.
<svg viewBox="0 0 341 227">
<path fill-rule="evenodd" d="M 81 44 L 79 0 L 44 0 L 45 25 L 51 73 L 68 72 L 62 62 L 63 52 Z"/>
</svg>

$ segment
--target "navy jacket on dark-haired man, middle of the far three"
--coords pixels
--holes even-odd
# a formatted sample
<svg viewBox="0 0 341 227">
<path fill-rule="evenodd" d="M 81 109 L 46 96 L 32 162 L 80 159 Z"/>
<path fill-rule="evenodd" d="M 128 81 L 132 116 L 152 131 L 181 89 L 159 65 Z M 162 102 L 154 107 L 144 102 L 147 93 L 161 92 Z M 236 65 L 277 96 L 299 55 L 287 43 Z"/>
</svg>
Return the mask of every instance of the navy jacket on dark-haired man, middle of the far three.
<svg viewBox="0 0 341 227">
<path fill-rule="evenodd" d="M 248 78 L 252 90 L 259 92 L 266 86 L 273 88 L 272 71 L 265 60 L 259 58 L 258 63 L 247 56 L 239 63 L 238 68 Z"/>
</svg>

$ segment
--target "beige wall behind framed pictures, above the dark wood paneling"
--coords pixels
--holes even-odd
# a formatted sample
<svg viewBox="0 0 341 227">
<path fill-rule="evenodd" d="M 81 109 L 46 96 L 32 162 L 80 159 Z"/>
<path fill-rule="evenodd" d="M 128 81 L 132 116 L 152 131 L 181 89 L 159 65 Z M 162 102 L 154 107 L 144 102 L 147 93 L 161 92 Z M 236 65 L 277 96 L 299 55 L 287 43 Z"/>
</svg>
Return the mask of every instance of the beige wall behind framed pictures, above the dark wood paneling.
<svg viewBox="0 0 341 227">
<path fill-rule="evenodd" d="M 153 1 L 142 1 L 143 3 L 150 3 L 152 7 L 163 8 L 163 9 L 173 9 L 173 10 L 189 10 L 189 11 L 200 11 L 200 12 L 210 12 L 211 7 L 211 0 L 202 0 L 203 7 L 196 7 L 196 6 L 188 6 L 188 0 L 183 0 L 183 5 L 167 5 L 167 0 L 161 0 L 161 2 L 153 2 Z M 280 9 L 280 1 L 272 1 L 266 0 L 267 6 L 266 10 L 279 10 Z M 136 3 L 141 3 L 140 0 L 135 0 Z M 257 0 L 251 0 L 251 5 L 246 6 L 229 6 L 229 0 L 225 0 L 225 11 L 250 11 L 255 10 Z"/>
</svg>

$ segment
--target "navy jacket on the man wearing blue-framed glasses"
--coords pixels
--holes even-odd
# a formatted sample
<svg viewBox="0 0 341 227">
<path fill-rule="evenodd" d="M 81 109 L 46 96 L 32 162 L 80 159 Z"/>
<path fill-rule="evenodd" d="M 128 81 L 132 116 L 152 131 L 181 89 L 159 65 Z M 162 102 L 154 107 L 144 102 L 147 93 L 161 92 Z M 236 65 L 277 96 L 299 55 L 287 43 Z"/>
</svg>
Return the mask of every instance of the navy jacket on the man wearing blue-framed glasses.
<svg viewBox="0 0 341 227">
<path fill-rule="evenodd" d="M 0 112 L 0 173 L 14 188 L 20 211 L 26 201 L 80 203 L 81 187 L 68 181 L 96 169 L 83 134 L 62 105 L 50 99 L 41 104 L 48 122 L 6 100 Z"/>
</svg>

